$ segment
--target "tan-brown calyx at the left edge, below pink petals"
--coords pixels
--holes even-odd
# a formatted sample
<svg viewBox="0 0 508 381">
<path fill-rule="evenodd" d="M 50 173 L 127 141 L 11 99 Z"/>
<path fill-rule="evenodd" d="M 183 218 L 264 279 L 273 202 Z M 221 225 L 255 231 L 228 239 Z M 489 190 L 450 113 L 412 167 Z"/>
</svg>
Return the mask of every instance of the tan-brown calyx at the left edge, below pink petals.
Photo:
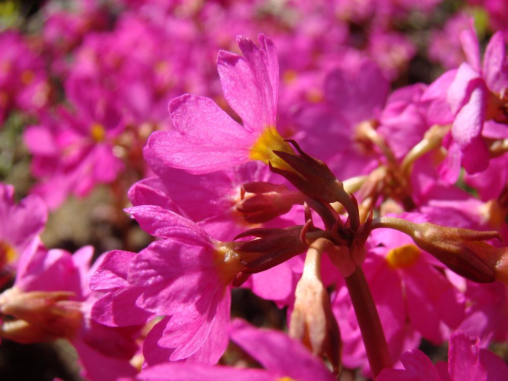
<svg viewBox="0 0 508 381">
<path fill-rule="evenodd" d="M 20 342 L 52 341 L 72 338 L 82 324 L 80 303 L 70 301 L 74 294 L 56 292 L 22 292 L 12 288 L 0 295 L 0 313 L 4 319 L 0 336 Z"/>
</svg>

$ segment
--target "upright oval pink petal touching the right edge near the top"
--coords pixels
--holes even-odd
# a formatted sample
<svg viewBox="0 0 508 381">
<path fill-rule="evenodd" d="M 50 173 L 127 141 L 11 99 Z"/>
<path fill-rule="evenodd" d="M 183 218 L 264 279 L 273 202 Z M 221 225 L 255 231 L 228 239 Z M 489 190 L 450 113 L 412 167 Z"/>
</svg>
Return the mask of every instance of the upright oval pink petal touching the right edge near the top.
<svg viewBox="0 0 508 381">
<path fill-rule="evenodd" d="M 483 77 L 490 90 L 501 93 L 508 88 L 508 61 L 501 32 L 490 38 L 483 57 Z"/>
</svg>

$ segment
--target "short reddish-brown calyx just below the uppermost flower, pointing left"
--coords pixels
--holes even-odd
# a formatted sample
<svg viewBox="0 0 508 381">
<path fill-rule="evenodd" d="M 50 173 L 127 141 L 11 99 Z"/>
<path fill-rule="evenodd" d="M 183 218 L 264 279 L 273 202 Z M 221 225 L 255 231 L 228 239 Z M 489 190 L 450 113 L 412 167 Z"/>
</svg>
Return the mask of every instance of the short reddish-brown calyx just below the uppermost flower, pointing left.
<svg viewBox="0 0 508 381">
<path fill-rule="evenodd" d="M 246 193 L 253 194 L 245 197 Z M 251 224 L 261 224 L 285 214 L 295 204 L 303 204 L 305 196 L 284 185 L 269 182 L 250 182 L 242 186 L 242 199 L 236 203 L 236 210 L 243 213 Z"/>
</svg>

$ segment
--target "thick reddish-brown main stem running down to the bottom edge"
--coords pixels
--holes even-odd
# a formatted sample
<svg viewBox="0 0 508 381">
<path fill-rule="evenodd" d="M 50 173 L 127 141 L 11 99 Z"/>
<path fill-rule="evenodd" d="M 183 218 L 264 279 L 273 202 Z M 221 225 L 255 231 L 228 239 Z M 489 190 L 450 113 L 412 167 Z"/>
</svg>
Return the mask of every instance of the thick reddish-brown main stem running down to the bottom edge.
<svg viewBox="0 0 508 381">
<path fill-rule="evenodd" d="M 374 299 L 370 293 L 367 279 L 362 268 L 359 266 L 353 275 L 345 278 L 347 290 L 350 293 L 353 308 L 355 309 L 356 318 L 362 339 L 365 344 L 365 351 L 369 360 L 372 378 L 379 374 L 383 368 L 391 368 L 392 360 L 390 352 L 388 352 L 388 344 L 386 343 L 385 333 L 379 321 Z"/>
</svg>

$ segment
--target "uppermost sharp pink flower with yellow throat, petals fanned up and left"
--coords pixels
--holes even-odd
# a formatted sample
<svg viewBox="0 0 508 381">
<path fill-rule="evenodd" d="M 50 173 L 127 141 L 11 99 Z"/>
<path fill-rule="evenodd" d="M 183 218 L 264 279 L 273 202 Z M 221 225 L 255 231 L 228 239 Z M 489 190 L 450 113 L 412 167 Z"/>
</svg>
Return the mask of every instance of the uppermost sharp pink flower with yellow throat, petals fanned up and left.
<svg viewBox="0 0 508 381">
<path fill-rule="evenodd" d="M 220 51 L 217 68 L 224 96 L 240 116 L 236 122 L 211 99 L 185 94 L 171 101 L 169 112 L 177 131 L 154 132 L 148 146 L 164 163 L 200 174 L 251 160 L 287 165 L 272 151 L 293 153 L 275 128 L 278 61 L 273 42 L 260 35 L 258 48 L 238 37 L 241 57 Z"/>
</svg>

